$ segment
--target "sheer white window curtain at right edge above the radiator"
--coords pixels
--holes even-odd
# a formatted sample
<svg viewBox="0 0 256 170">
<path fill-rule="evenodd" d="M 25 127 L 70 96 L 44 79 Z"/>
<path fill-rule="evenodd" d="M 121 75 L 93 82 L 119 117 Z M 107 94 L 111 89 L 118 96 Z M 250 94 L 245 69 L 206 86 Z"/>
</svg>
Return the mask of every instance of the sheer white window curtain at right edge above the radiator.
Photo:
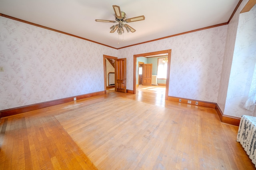
<svg viewBox="0 0 256 170">
<path fill-rule="evenodd" d="M 244 104 L 244 108 L 250 111 L 254 111 L 255 109 L 255 102 L 256 102 L 256 67 L 254 67 L 254 72 L 252 76 L 252 83 L 250 86 L 250 91 L 248 95 L 248 99 Z"/>
</svg>

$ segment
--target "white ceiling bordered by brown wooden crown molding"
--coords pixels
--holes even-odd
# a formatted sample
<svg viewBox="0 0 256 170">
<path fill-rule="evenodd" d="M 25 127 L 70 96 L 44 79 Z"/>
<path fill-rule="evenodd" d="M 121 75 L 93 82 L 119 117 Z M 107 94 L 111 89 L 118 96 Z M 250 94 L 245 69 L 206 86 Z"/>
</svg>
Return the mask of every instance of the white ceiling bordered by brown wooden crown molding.
<svg viewBox="0 0 256 170">
<path fill-rule="evenodd" d="M 0 13 L 57 29 L 114 48 L 126 47 L 186 31 L 228 22 L 239 0 L 0 0 Z M 110 33 L 112 5 L 127 18 L 134 33 Z"/>
</svg>

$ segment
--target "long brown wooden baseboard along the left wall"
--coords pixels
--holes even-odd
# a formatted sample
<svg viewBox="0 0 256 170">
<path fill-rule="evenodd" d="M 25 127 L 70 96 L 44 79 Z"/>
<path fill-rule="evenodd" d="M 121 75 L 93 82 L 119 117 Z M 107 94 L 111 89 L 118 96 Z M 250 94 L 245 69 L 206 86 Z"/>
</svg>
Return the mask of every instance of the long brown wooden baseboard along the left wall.
<svg viewBox="0 0 256 170">
<path fill-rule="evenodd" d="M 72 101 L 74 101 L 74 98 L 76 98 L 76 100 L 80 100 L 80 99 L 89 98 L 92 96 L 98 96 L 98 95 L 102 95 L 102 94 L 104 94 L 104 91 L 94 92 L 94 93 L 89 93 L 89 94 L 82 94 L 79 96 L 72 96 L 69 98 L 57 99 L 57 100 L 52 100 L 52 101 L 48 101 L 48 102 L 32 104 L 32 105 L 28 105 L 28 106 L 15 107 L 12 109 L 1 110 L 0 113 L 1 113 L 1 117 L 7 117 L 7 116 L 11 116 L 11 115 L 16 115 L 19 113 L 24 113 L 27 111 L 33 111 L 33 110 L 42 109 L 45 107 L 55 106 L 58 104 L 64 104 L 67 102 L 72 102 Z"/>
</svg>

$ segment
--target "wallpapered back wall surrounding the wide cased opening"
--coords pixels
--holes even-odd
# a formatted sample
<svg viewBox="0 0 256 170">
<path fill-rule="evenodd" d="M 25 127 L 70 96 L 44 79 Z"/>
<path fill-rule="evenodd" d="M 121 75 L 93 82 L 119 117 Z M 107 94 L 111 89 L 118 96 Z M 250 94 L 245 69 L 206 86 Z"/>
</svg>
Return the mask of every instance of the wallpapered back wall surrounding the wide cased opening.
<svg viewBox="0 0 256 170">
<path fill-rule="evenodd" d="M 217 102 L 228 25 L 118 50 L 127 58 L 127 89 L 133 89 L 133 55 L 172 49 L 169 96 Z"/>
</svg>

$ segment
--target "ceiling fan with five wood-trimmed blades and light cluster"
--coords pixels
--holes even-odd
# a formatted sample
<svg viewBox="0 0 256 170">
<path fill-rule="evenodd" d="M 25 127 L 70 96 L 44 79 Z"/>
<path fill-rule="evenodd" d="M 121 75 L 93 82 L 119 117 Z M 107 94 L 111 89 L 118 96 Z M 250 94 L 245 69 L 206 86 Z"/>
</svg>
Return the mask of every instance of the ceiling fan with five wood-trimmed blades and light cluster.
<svg viewBox="0 0 256 170">
<path fill-rule="evenodd" d="M 131 31 L 132 33 L 134 33 L 136 30 L 133 29 L 130 25 L 128 25 L 126 23 L 145 20 L 145 16 L 137 16 L 137 17 L 134 17 L 134 18 L 126 19 L 126 14 L 120 10 L 119 6 L 113 5 L 113 8 L 114 8 L 115 17 L 116 17 L 115 21 L 95 20 L 97 22 L 113 22 L 113 23 L 118 22 L 118 24 L 113 25 L 112 27 L 110 27 L 110 33 L 114 33 L 117 29 L 117 33 L 119 35 L 122 35 L 122 33 L 124 33 L 124 28 L 123 27 L 126 28 L 127 32 Z"/>
</svg>

